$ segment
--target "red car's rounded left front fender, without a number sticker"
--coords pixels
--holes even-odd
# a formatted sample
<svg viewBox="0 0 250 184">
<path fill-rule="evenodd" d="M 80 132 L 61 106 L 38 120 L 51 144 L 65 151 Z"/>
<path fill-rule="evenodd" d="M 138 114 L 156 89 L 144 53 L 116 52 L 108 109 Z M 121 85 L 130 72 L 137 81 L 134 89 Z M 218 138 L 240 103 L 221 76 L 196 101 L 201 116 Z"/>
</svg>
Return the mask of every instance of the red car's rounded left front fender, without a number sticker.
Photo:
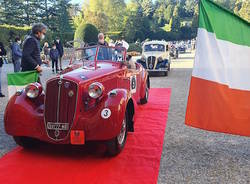
<svg viewBox="0 0 250 184">
<path fill-rule="evenodd" d="M 25 93 L 12 96 L 4 113 L 6 133 L 14 136 L 43 136 L 43 105 L 40 100 L 42 101 L 40 98 L 28 99 Z"/>
</svg>

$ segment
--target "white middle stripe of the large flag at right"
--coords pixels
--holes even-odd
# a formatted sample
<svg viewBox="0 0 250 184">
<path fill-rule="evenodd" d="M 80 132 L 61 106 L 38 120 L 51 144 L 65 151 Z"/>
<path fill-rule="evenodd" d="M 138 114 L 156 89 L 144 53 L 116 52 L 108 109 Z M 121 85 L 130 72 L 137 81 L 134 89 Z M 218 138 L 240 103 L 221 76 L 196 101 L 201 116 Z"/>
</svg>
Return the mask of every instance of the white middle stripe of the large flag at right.
<svg viewBox="0 0 250 184">
<path fill-rule="evenodd" d="M 250 47 L 219 40 L 214 33 L 199 28 L 192 75 L 229 88 L 250 90 Z"/>
</svg>

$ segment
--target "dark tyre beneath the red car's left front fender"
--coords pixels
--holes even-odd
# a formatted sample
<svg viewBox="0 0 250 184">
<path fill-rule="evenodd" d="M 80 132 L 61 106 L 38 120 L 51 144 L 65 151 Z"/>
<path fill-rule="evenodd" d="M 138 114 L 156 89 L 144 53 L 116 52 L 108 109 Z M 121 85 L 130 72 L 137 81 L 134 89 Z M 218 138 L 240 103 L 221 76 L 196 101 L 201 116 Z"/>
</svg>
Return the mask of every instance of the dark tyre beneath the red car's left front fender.
<svg viewBox="0 0 250 184">
<path fill-rule="evenodd" d="M 30 137 L 20 137 L 20 136 L 14 136 L 14 141 L 17 145 L 22 146 L 26 149 L 31 149 L 39 145 L 39 140 L 30 138 Z"/>
</svg>

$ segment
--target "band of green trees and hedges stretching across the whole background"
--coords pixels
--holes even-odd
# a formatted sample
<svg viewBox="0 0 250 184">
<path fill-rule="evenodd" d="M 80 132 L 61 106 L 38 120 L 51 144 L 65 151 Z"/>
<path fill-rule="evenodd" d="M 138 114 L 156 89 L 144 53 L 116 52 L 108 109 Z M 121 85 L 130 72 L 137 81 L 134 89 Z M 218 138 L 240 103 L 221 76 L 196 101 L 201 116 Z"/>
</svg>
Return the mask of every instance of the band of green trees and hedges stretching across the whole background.
<svg viewBox="0 0 250 184">
<path fill-rule="evenodd" d="M 59 36 L 64 43 L 73 39 L 75 29 L 75 38 L 81 35 L 79 38 L 90 37 L 91 42 L 95 42 L 98 31 L 89 37 L 85 37 L 84 31 L 83 35 L 87 24 L 94 25 L 109 39 L 125 38 L 128 42 L 193 38 L 198 27 L 199 0 L 87 0 L 82 9 L 71 5 L 70 0 L 0 1 L 0 24 L 14 25 L 0 27 L 0 39 L 6 44 L 16 35 L 24 37 L 28 30 L 22 27 L 35 22 L 49 27 L 47 41 L 52 42 Z M 249 1 L 213 1 L 250 21 Z"/>
</svg>

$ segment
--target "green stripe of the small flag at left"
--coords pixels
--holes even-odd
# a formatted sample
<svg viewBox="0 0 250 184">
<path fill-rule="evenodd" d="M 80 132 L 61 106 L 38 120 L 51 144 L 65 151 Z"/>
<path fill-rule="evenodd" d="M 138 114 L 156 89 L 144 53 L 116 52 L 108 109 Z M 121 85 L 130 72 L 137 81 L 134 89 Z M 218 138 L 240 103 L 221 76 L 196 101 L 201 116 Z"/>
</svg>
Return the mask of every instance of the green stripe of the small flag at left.
<svg viewBox="0 0 250 184">
<path fill-rule="evenodd" d="M 18 72 L 7 74 L 8 85 L 25 86 L 38 81 L 37 71 Z"/>
</svg>

